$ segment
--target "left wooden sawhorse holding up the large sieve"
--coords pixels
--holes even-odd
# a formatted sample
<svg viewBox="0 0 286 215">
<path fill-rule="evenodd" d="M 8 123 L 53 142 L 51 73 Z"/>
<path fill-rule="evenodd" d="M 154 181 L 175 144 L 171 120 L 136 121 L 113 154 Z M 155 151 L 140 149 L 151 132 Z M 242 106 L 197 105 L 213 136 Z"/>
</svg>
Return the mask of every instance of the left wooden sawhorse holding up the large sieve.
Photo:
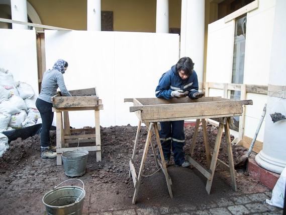
<svg viewBox="0 0 286 215">
<path fill-rule="evenodd" d="M 170 176 L 168 175 L 166 162 L 165 162 L 165 159 L 164 159 L 162 146 L 161 146 L 161 142 L 160 142 L 158 125 L 157 125 L 156 122 L 155 123 L 150 122 L 150 123 L 145 123 L 145 124 L 148 127 L 148 133 L 147 133 L 147 138 L 146 138 L 146 142 L 145 142 L 145 147 L 144 147 L 144 151 L 143 151 L 143 156 L 142 156 L 142 160 L 141 160 L 141 164 L 140 164 L 138 177 L 137 177 L 137 174 L 136 174 L 136 171 L 135 171 L 135 167 L 134 167 L 134 162 L 133 161 L 134 161 L 134 158 L 135 158 L 137 144 L 138 144 L 138 139 L 139 139 L 139 133 L 140 133 L 140 128 L 141 128 L 141 120 L 139 120 L 139 123 L 138 123 L 136 137 L 135 137 L 135 141 L 134 141 L 133 154 L 132 154 L 132 158 L 130 159 L 130 162 L 129 162 L 129 166 L 130 166 L 129 177 L 132 176 L 133 184 L 134 184 L 134 188 L 135 188 L 133 199 L 132 199 L 132 203 L 133 204 L 136 203 L 139 187 L 140 187 L 140 184 L 141 184 L 141 179 L 143 177 L 142 173 L 143 173 L 145 161 L 146 161 L 148 150 L 149 150 L 149 145 L 151 145 L 157 169 L 159 170 L 161 168 L 162 172 L 164 173 L 170 197 L 173 198 L 173 194 L 172 194 L 172 190 L 171 190 L 172 180 L 171 180 Z M 160 152 L 160 158 L 161 159 L 157 158 L 154 145 L 153 145 L 153 143 L 151 141 L 151 136 L 152 136 L 152 132 L 153 132 L 152 129 L 153 128 L 154 128 L 154 131 L 155 131 L 156 141 L 157 141 L 157 145 L 158 145 L 158 149 L 159 149 L 159 152 Z"/>
</svg>

